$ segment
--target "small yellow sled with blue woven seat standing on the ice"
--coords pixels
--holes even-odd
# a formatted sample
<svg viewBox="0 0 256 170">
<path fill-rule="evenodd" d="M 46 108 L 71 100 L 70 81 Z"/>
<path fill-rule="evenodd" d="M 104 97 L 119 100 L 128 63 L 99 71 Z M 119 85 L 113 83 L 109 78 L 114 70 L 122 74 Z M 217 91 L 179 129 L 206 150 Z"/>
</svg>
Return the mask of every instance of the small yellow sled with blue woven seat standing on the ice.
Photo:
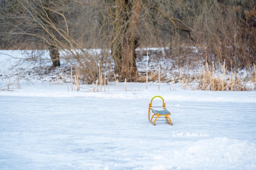
<svg viewBox="0 0 256 170">
<path fill-rule="evenodd" d="M 153 99 L 155 99 L 156 97 L 160 97 L 163 101 L 163 105 L 162 106 L 159 106 L 162 108 L 162 110 L 154 110 L 153 109 L 153 106 L 152 106 L 152 101 Z M 153 114 L 151 116 L 151 114 Z M 168 110 L 166 110 L 166 106 L 165 106 L 165 103 L 164 103 L 164 99 L 163 97 L 161 96 L 154 96 L 151 101 L 150 101 L 150 104 L 148 106 L 148 121 L 155 125 L 155 122 L 157 121 L 157 119 L 159 117 L 165 117 L 165 120 L 168 124 L 170 125 L 173 125 L 172 121 L 171 121 L 171 118 L 169 117 L 171 115 L 171 112 L 169 112 Z"/>
</svg>

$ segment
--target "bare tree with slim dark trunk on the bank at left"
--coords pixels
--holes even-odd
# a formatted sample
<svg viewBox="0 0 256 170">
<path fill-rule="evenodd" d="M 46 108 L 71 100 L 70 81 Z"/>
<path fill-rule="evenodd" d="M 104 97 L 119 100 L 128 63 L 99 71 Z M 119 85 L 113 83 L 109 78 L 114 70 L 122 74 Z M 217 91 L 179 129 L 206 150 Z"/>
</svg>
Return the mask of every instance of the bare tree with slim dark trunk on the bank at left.
<svg viewBox="0 0 256 170">
<path fill-rule="evenodd" d="M 3 9 L 4 21 L 8 28 L 6 38 L 17 42 L 46 43 L 50 52 L 53 66 L 60 66 L 58 46 L 56 45 L 56 26 L 61 20 L 59 11 L 54 11 L 49 7 L 54 4 L 49 0 L 29 1 L 29 0 L 4 0 Z M 29 40 L 26 40 L 28 39 Z M 38 46 L 38 45 L 37 45 Z M 36 46 L 34 46 L 36 47 Z"/>
</svg>

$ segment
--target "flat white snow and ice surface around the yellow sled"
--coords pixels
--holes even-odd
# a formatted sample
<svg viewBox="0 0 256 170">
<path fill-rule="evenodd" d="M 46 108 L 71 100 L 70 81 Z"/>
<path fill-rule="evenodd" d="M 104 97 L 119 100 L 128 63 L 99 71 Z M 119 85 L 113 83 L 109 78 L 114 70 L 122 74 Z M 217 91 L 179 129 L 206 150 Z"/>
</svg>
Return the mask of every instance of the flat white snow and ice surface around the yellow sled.
<svg viewBox="0 0 256 170">
<path fill-rule="evenodd" d="M 15 62 L 0 55 L 0 87 Z M 158 90 L 154 82 L 147 90 L 145 83 L 128 83 L 125 91 L 112 82 L 100 92 L 86 84 L 72 91 L 70 83 L 25 80 L 0 91 L 0 170 L 256 169 L 255 91 L 167 83 Z M 155 95 L 173 126 L 148 122 Z"/>
</svg>

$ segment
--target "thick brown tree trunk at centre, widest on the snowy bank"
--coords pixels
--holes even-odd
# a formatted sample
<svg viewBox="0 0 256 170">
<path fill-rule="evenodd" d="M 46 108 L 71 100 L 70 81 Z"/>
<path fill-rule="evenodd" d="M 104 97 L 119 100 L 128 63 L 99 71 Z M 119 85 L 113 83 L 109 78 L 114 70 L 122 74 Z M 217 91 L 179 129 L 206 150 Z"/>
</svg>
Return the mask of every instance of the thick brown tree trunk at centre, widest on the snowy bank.
<svg viewBox="0 0 256 170">
<path fill-rule="evenodd" d="M 114 40 L 112 56 L 115 60 L 115 74 L 119 80 L 137 79 L 135 49 L 136 37 L 141 13 L 140 0 L 115 0 Z"/>
</svg>

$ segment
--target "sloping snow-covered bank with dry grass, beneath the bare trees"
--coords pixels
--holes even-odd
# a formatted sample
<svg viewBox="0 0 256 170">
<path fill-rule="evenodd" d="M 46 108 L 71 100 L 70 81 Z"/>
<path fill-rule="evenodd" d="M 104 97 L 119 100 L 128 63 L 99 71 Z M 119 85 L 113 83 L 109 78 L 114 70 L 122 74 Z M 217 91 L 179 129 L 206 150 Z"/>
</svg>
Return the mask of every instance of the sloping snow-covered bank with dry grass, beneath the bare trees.
<svg viewBox="0 0 256 170">
<path fill-rule="evenodd" d="M 146 82 L 146 63 L 147 58 L 149 58 L 149 81 L 158 81 L 158 66 L 160 66 L 162 83 L 179 82 L 185 89 L 216 89 L 222 91 L 255 91 L 256 89 L 256 71 L 254 71 L 254 68 L 252 70 L 243 69 L 236 71 L 236 73 L 225 69 L 225 73 L 223 73 L 223 70 L 218 66 L 219 69 L 215 68 L 215 73 L 212 73 L 211 69 L 209 69 L 210 66 L 206 68 L 205 63 L 202 63 L 202 61 L 193 63 L 193 66 L 187 66 L 184 63 L 182 67 L 179 66 L 178 68 L 177 61 L 168 56 L 159 57 L 157 53 L 164 53 L 164 49 L 154 49 L 150 57 L 147 57 L 142 51 L 139 53 L 139 57 L 136 60 L 139 72 L 137 81 Z M 71 64 L 64 59 L 64 55 L 62 53 L 61 66 L 52 68 L 49 51 L 0 50 L 0 90 L 9 84 L 17 86 L 17 84 L 21 83 L 50 82 L 51 84 L 68 84 L 74 82 L 74 73 L 73 80 L 71 79 L 71 69 L 73 68 L 74 71 L 74 66 L 71 67 Z M 113 64 L 110 69 L 110 77 L 106 77 L 110 81 L 114 81 L 112 74 Z M 101 69 L 101 73 L 104 75 L 104 71 L 106 71 L 108 76 L 109 66 L 107 66 L 106 70 L 105 68 Z M 213 77 L 211 77 L 212 75 Z M 81 77 L 84 76 L 81 75 Z M 80 84 L 88 84 L 86 79 L 81 78 L 79 81 Z M 96 80 L 94 83 L 96 83 Z"/>
</svg>

